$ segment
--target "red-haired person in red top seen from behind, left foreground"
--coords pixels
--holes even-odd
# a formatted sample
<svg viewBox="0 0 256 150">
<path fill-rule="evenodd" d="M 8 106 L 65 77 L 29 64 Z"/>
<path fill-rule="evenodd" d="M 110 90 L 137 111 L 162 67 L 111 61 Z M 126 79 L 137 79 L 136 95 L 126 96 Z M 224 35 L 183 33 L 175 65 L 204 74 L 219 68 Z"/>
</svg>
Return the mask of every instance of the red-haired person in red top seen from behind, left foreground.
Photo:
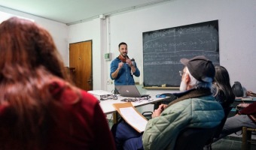
<svg viewBox="0 0 256 150">
<path fill-rule="evenodd" d="M 69 82 L 50 33 L 17 17 L 0 32 L 0 149 L 115 149 L 99 102 Z"/>
</svg>

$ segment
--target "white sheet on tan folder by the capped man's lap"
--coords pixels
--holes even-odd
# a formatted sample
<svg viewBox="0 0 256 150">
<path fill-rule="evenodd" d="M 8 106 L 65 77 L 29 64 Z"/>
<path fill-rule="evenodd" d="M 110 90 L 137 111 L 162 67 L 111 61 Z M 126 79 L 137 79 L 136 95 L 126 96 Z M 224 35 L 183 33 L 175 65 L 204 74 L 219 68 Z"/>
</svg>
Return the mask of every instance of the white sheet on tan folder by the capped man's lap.
<svg viewBox="0 0 256 150">
<path fill-rule="evenodd" d="M 139 133 L 145 130 L 148 120 L 133 107 L 133 104 L 128 102 L 113 104 L 113 106 L 122 118 Z"/>
</svg>

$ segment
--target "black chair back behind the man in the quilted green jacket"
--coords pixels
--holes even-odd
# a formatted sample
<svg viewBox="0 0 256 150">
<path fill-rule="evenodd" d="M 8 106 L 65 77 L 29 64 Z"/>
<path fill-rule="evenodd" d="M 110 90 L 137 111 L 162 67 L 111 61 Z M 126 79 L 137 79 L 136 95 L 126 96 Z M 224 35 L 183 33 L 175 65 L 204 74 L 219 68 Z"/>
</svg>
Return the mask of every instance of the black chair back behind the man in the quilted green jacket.
<svg viewBox="0 0 256 150">
<path fill-rule="evenodd" d="M 204 145 L 217 130 L 213 128 L 186 128 L 179 133 L 176 142 L 175 150 L 203 150 Z"/>
</svg>

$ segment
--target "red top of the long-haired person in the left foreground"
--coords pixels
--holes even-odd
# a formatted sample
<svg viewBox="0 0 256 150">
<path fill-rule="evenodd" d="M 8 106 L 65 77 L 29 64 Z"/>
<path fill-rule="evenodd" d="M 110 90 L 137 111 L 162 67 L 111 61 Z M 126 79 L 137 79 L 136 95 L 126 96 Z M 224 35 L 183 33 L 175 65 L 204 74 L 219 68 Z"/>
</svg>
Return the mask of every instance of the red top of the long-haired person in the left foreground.
<svg viewBox="0 0 256 150">
<path fill-rule="evenodd" d="M 50 110 L 56 122 L 47 127 L 45 149 L 115 150 L 108 121 L 93 95 L 67 88 L 62 80 L 50 83 L 49 90 L 62 107 Z M 4 109 L 0 105 L 0 113 Z"/>
</svg>

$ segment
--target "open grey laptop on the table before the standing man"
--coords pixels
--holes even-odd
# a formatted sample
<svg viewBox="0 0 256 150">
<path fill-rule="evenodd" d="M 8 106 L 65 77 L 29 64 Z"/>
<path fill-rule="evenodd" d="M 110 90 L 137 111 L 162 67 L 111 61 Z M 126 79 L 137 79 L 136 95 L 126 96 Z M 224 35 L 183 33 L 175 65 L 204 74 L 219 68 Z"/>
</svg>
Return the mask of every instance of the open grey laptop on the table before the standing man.
<svg viewBox="0 0 256 150">
<path fill-rule="evenodd" d="M 135 85 L 122 85 L 122 86 L 115 86 L 119 94 L 123 97 L 130 97 L 130 98 L 142 98 L 147 97 L 149 95 L 141 95 L 139 90 L 136 88 Z"/>
</svg>

